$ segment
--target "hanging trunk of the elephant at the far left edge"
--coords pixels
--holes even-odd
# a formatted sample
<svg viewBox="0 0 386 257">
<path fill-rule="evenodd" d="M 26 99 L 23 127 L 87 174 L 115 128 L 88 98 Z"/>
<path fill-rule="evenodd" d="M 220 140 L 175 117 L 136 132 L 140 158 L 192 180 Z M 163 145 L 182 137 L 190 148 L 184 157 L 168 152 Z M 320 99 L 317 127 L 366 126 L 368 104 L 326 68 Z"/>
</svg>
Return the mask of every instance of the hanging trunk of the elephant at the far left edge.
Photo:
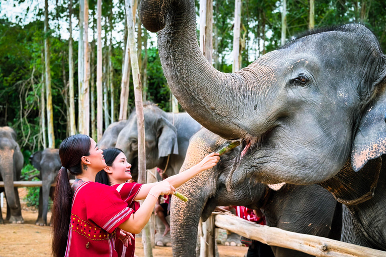
<svg viewBox="0 0 386 257">
<path fill-rule="evenodd" d="M 7 196 L 7 204 L 11 209 L 17 209 L 14 190 L 14 152 L 15 150 L 3 150 L 0 153 L 0 169 L 4 181 L 4 190 Z"/>
</svg>

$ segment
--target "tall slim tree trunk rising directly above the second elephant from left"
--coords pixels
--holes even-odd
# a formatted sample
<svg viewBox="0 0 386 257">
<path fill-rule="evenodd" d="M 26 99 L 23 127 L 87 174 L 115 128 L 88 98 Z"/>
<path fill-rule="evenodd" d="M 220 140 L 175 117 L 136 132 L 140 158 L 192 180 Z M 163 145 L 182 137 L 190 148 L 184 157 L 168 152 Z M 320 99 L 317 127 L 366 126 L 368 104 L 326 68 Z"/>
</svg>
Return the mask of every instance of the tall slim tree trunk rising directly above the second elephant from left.
<svg viewBox="0 0 386 257">
<path fill-rule="evenodd" d="M 50 45 L 48 42 L 48 0 L 44 1 L 44 59 L 46 65 L 46 95 L 47 95 L 47 133 L 48 133 L 48 148 L 55 148 L 54 135 L 54 117 L 52 110 L 52 94 L 51 94 L 51 69 L 50 69 Z"/>
</svg>

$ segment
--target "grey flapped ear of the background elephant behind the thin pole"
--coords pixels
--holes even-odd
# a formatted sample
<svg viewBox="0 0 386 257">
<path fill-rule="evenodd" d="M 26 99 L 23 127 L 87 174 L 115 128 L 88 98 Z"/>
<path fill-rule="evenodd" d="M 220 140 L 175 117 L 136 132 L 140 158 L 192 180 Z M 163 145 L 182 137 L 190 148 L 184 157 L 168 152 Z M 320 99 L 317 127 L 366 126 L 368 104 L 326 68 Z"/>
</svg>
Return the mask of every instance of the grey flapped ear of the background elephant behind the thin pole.
<svg viewBox="0 0 386 257">
<path fill-rule="evenodd" d="M 158 138 L 158 158 L 170 154 L 178 155 L 177 129 L 164 117 L 158 120 L 160 136 Z"/>
</svg>

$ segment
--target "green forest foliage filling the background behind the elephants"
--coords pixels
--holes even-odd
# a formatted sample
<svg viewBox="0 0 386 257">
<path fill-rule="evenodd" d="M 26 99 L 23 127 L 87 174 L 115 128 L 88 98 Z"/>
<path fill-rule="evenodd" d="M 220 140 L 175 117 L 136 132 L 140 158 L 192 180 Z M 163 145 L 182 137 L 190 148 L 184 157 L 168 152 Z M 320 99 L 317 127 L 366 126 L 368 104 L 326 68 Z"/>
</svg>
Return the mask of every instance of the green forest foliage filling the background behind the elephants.
<svg viewBox="0 0 386 257">
<path fill-rule="evenodd" d="M 83 14 L 80 1 L 46 0 L 50 7 L 47 13 L 49 27 L 45 31 L 45 5 L 42 1 L 14 1 L 18 5 L 28 5 L 24 15 L 10 19 L 7 12 L 0 16 L 0 126 L 11 126 L 18 135 L 25 161 L 32 153 L 47 147 L 46 138 L 46 78 L 45 40 L 49 44 L 49 75 L 51 77 L 52 115 L 54 144 L 70 135 L 69 95 L 70 79 L 73 80 L 75 121 L 77 131 L 83 116 L 78 115 L 82 98 L 82 79 L 78 77 L 79 41 L 74 40 L 73 76 L 69 74 L 69 40 L 61 35 L 63 24 L 69 23 L 72 14 L 72 33 L 81 33 Z M 266 52 L 281 45 L 283 1 L 242 0 L 240 49 L 241 68 Z M 313 3 L 313 0 L 310 0 Z M 0 0 L 0 11 L 4 0 Z M 88 39 L 89 39 L 89 92 L 90 92 L 90 136 L 96 136 L 96 56 L 98 12 L 96 0 L 88 1 Z M 288 42 L 310 26 L 309 0 L 286 0 L 285 41 Z M 361 23 L 369 28 L 386 49 L 386 1 L 384 0 L 316 0 L 314 5 L 315 28 L 346 23 Z M 135 6 L 135 5 L 134 5 Z M 84 7 L 84 6 L 83 6 Z M 83 8 L 82 7 L 82 8 Z M 197 22 L 199 3 L 196 1 Z M 165 111 L 171 111 L 172 95 L 163 75 L 158 56 L 155 34 L 148 33 L 138 18 L 135 22 L 136 43 L 138 47 L 139 69 L 143 85 L 143 99 L 158 104 Z M 8 17 L 7 17 L 8 16 Z M 80 18 L 80 19 L 79 19 Z M 124 73 L 125 47 L 127 41 L 127 22 L 125 1 L 102 1 L 102 46 L 103 46 L 103 130 L 120 118 L 121 85 Z M 213 65 L 222 72 L 232 72 L 233 26 L 235 20 L 235 0 L 213 1 Z M 81 21 L 81 22 L 79 22 Z M 67 28 L 68 26 L 66 26 Z M 81 26 L 82 27 L 82 26 Z M 197 26 L 199 28 L 199 25 Z M 199 29 L 198 29 L 199 35 Z M 67 34 L 67 33 L 65 33 Z M 81 38 L 81 36 L 74 36 Z M 360 43 L 360 42 L 358 42 Z M 83 66 L 84 67 L 84 66 Z M 130 67 L 130 66 L 129 66 Z M 82 72 L 80 72 L 81 74 Z M 133 81 L 130 74 L 128 111 L 134 108 Z M 181 107 L 179 107 L 180 110 Z M 122 118 L 122 117 L 121 117 Z M 79 122 L 80 121 L 80 122 Z"/>
</svg>

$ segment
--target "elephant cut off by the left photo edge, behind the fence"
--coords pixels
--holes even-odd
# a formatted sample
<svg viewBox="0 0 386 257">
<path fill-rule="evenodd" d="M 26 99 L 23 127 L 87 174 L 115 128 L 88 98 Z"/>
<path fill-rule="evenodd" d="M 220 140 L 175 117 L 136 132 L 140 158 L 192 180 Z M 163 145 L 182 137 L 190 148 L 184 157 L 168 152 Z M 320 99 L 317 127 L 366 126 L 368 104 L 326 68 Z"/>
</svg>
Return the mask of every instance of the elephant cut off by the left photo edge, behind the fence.
<svg viewBox="0 0 386 257">
<path fill-rule="evenodd" d="M 4 181 L 0 193 L 6 193 L 6 219 L 11 223 L 24 223 L 18 188 L 14 187 L 14 181 L 20 180 L 22 175 L 23 163 L 24 158 L 16 142 L 15 131 L 9 126 L 0 127 L 0 181 Z M 3 215 L 0 212 L 0 224 L 3 223 Z"/>
</svg>

